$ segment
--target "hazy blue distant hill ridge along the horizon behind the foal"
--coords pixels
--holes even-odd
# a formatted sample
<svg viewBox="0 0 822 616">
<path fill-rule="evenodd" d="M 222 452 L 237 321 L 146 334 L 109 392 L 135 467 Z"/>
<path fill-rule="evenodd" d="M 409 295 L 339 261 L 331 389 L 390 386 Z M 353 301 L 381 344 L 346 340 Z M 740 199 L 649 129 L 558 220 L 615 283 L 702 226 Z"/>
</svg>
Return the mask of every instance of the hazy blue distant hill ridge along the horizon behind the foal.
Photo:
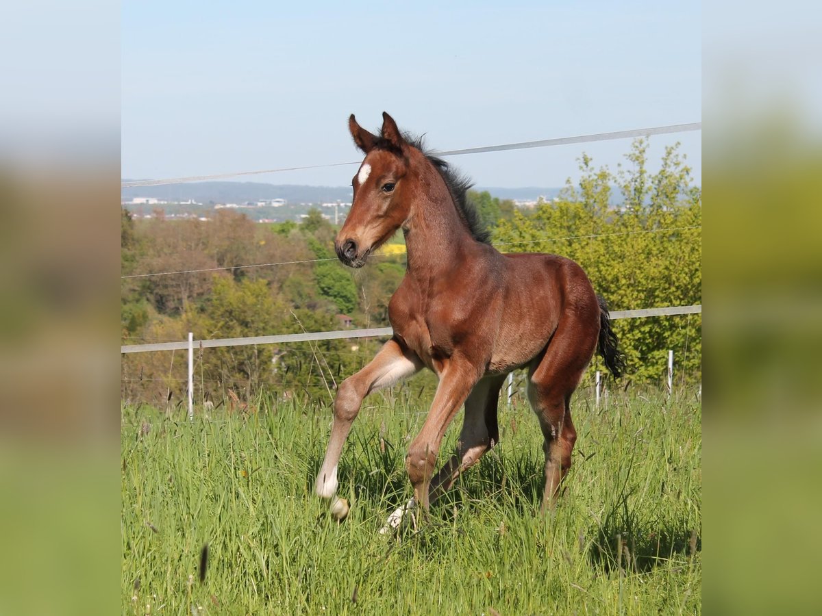
<svg viewBox="0 0 822 616">
<path fill-rule="evenodd" d="M 486 188 L 476 186 L 477 191 L 488 191 L 500 199 L 536 200 L 539 196 L 555 197 L 559 188 Z M 245 203 L 263 199 L 285 199 L 289 205 L 301 203 L 334 203 L 351 201 L 350 186 L 298 186 L 293 184 L 264 184 L 262 182 L 190 182 L 167 186 L 136 186 L 122 189 L 122 199 L 154 197 L 166 201 L 195 200 L 210 203 Z"/>
</svg>

